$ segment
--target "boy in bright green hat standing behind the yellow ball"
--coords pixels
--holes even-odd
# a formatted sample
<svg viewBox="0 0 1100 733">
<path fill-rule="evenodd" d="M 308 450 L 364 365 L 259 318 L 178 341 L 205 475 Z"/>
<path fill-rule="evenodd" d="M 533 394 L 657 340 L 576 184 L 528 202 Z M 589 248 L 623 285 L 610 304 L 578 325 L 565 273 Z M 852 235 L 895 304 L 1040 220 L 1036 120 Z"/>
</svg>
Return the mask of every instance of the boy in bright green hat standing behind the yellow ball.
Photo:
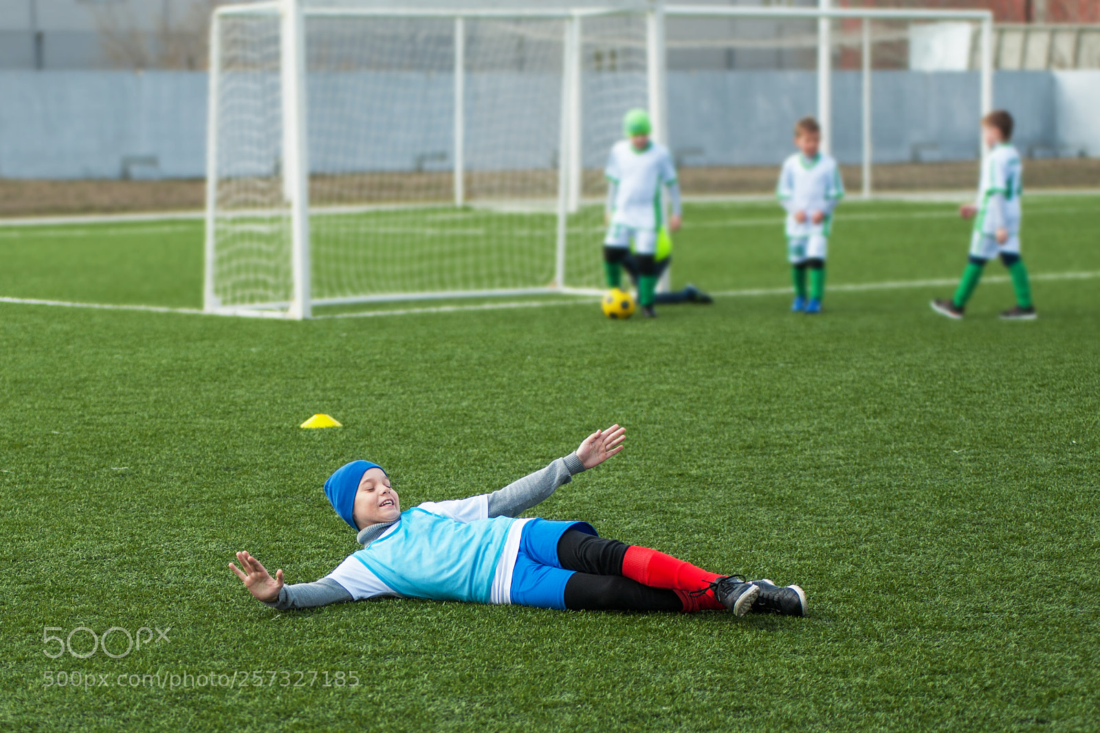
<svg viewBox="0 0 1100 733">
<path fill-rule="evenodd" d="M 604 275 L 608 287 L 623 282 L 623 260 L 630 252 L 638 266 L 638 302 L 641 315 L 653 317 L 659 276 L 657 238 L 663 222 L 661 193 L 669 189 L 669 230 L 680 229 L 680 185 L 676 168 L 664 145 L 649 139 L 649 114 L 631 109 L 623 118 L 627 139 L 612 147 L 607 157 L 607 237 L 604 239 Z"/>
</svg>

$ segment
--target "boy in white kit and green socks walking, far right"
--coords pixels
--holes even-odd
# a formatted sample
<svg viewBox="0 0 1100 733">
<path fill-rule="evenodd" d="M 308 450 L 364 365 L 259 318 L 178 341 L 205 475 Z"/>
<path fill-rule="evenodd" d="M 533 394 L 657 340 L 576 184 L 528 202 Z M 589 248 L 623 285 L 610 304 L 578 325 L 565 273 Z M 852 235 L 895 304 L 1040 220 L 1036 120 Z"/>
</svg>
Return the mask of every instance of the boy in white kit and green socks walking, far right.
<svg viewBox="0 0 1100 733">
<path fill-rule="evenodd" d="M 955 297 L 933 300 L 932 309 L 948 318 L 959 319 L 970 299 L 981 272 L 997 255 L 1009 269 L 1012 288 L 1016 293 L 1015 307 L 1001 314 L 1005 320 L 1033 320 L 1035 306 L 1031 299 L 1027 269 L 1020 259 L 1020 195 L 1023 193 L 1020 153 L 1009 141 L 1012 139 L 1012 116 L 1004 110 L 990 112 L 981 118 L 981 136 L 989 146 L 989 158 L 981 169 L 978 203 L 959 207 L 964 219 L 975 219 L 970 236 L 970 260 L 963 271 Z"/>
</svg>

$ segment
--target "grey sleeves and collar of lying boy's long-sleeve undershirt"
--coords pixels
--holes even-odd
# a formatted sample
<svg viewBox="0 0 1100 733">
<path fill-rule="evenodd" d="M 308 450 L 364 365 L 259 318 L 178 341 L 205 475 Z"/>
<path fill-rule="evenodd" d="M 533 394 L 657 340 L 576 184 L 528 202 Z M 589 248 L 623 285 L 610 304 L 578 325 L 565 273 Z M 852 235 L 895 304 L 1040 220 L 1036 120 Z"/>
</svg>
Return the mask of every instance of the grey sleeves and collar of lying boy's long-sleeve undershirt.
<svg viewBox="0 0 1100 733">
<path fill-rule="evenodd" d="M 575 452 L 559 458 L 544 469 L 525 475 L 522 479 L 513 481 L 507 486 L 487 494 L 488 515 L 491 517 L 518 516 L 549 499 L 558 490 L 558 486 L 569 483 L 575 474 L 583 470 L 584 464 Z M 365 527 L 359 532 L 356 539 L 365 547 L 384 535 L 394 524 L 394 522 L 389 522 Z M 283 586 L 278 592 L 278 600 L 264 601 L 264 605 L 279 611 L 288 611 L 351 600 L 351 593 L 344 590 L 343 586 L 331 578 L 322 578 L 311 583 Z"/>
</svg>

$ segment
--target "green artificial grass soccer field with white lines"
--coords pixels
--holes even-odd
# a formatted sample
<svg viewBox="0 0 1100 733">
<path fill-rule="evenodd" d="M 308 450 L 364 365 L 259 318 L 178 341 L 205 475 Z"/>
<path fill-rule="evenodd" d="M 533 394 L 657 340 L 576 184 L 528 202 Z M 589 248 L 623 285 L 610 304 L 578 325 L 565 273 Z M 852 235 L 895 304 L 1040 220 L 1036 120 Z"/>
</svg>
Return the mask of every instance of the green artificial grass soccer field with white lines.
<svg viewBox="0 0 1100 733">
<path fill-rule="evenodd" d="M 0 303 L 0 729 L 1097 730 L 1100 294 L 1044 280 L 1100 272 L 1097 204 L 1026 199 L 1034 322 L 996 318 L 1012 298 L 992 278 L 966 320 L 933 314 L 954 285 L 904 283 L 954 281 L 968 225 L 890 201 L 838 210 L 829 283 L 875 287 L 827 292 L 821 317 L 785 294 L 625 322 L 594 304 L 283 322 Z M 787 285 L 774 206 L 685 222 L 675 281 Z M 197 307 L 201 222 L 4 228 L 0 262 L 3 296 Z M 321 412 L 344 427 L 297 427 Z M 246 549 L 311 581 L 355 550 L 321 491 L 351 458 L 409 507 L 614 422 L 624 453 L 540 516 L 799 582 L 810 616 L 278 613 L 226 567 Z M 45 627 L 81 626 L 170 641 L 45 656 Z M 45 687 L 59 671 L 95 686 Z"/>
</svg>

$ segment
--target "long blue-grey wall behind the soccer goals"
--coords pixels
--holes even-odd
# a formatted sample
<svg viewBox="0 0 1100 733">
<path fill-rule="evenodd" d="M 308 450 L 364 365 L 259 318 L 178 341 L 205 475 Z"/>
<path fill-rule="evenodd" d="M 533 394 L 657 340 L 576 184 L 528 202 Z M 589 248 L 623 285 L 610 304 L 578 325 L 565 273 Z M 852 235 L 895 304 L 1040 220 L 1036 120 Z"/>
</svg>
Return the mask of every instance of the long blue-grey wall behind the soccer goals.
<svg viewBox="0 0 1100 733">
<path fill-rule="evenodd" d="M 405 73 L 318 75 L 311 83 L 312 167 L 319 172 L 446 169 L 451 158 L 451 79 Z M 618 135 L 618 108 L 645 101 L 645 80 L 619 75 L 609 107 L 592 78 L 585 91 L 584 164 L 600 167 Z M 978 77 L 970 73 L 873 75 L 875 160 L 967 160 L 978 154 Z M 267 85 L 270 90 L 277 89 Z M 228 85 L 227 85 L 228 88 Z M 558 150 L 554 75 L 472 74 L 471 168 L 550 168 Z M 860 76 L 834 81 L 834 146 L 860 156 Z M 1100 72 L 1002 72 L 998 106 L 1018 119 L 1018 145 L 1040 156 L 1100 156 Z M 237 173 L 278 165 L 276 97 L 267 109 L 234 95 L 239 123 L 223 161 Z M 201 177 L 206 75 L 189 72 L 0 72 L 0 176 L 11 178 Z M 383 100 L 380 105 L 377 100 Z M 505 102 L 494 100 L 507 100 Z M 496 103 L 497 107 L 492 105 Z M 610 109 L 615 107 L 615 109 Z M 791 150 L 795 119 L 816 108 L 807 72 L 685 72 L 669 78 L 671 146 L 685 165 L 774 164 Z M 273 117 L 272 112 L 276 114 Z M 541 125 L 541 127 L 540 127 Z"/>
</svg>

